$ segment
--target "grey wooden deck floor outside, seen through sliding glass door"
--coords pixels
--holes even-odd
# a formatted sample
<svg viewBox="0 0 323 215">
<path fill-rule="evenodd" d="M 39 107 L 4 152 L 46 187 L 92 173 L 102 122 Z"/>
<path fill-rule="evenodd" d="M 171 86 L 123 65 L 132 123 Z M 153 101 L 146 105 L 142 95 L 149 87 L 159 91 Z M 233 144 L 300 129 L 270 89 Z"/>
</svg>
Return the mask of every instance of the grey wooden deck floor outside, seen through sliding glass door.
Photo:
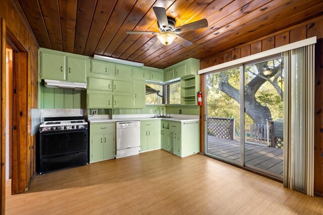
<svg viewBox="0 0 323 215">
<path fill-rule="evenodd" d="M 207 152 L 240 162 L 240 142 L 237 140 L 208 135 Z M 282 149 L 245 143 L 245 162 L 248 165 L 283 175 L 283 159 Z"/>
</svg>

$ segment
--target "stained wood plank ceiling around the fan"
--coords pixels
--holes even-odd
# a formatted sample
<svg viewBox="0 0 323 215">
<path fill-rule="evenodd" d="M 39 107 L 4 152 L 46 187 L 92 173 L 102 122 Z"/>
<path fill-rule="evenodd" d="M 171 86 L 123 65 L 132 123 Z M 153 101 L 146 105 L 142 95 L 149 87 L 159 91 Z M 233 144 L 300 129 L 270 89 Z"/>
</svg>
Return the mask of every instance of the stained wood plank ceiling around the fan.
<svg viewBox="0 0 323 215">
<path fill-rule="evenodd" d="M 323 15 L 322 0 L 18 0 L 41 47 L 99 54 L 165 68 L 202 59 Z M 207 28 L 180 34 L 193 44 L 159 45 L 152 7 L 164 7 L 176 26 L 206 18 Z M 169 52 L 168 52 L 169 49 Z"/>
</svg>

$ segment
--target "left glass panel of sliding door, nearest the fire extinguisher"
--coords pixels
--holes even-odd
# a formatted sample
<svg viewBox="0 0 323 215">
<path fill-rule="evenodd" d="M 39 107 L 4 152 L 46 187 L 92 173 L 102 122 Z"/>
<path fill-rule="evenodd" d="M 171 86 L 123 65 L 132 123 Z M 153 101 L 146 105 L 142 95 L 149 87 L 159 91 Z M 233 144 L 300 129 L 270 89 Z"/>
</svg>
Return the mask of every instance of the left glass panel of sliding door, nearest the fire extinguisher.
<svg viewBox="0 0 323 215">
<path fill-rule="evenodd" d="M 240 67 L 206 76 L 206 154 L 241 165 Z"/>
</svg>

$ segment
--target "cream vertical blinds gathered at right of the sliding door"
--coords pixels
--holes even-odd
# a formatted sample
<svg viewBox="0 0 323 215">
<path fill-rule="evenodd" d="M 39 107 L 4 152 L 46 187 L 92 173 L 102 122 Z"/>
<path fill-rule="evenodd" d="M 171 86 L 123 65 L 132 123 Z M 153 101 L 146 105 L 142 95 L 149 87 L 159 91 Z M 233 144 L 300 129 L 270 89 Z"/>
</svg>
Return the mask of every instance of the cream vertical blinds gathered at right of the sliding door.
<svg viewBox="0 0 323 215">
<path fill-rule="evenodd" d="M 313 196 L 314 44 L 284 52 L 284 186 Z"/>
</svg>

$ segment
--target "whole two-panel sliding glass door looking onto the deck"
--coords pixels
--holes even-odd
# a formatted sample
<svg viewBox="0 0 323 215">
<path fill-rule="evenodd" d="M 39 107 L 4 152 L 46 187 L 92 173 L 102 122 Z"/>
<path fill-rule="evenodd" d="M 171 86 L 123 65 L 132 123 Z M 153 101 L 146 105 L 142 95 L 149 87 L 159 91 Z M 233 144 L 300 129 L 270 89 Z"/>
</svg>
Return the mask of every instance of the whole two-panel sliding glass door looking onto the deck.
<svg viewBox="0 0 323 215">
<path fill-rule="evenodd" d="M 283 176 L 283 59 L 207 74 L 205 155 Z"/>
</svg>

